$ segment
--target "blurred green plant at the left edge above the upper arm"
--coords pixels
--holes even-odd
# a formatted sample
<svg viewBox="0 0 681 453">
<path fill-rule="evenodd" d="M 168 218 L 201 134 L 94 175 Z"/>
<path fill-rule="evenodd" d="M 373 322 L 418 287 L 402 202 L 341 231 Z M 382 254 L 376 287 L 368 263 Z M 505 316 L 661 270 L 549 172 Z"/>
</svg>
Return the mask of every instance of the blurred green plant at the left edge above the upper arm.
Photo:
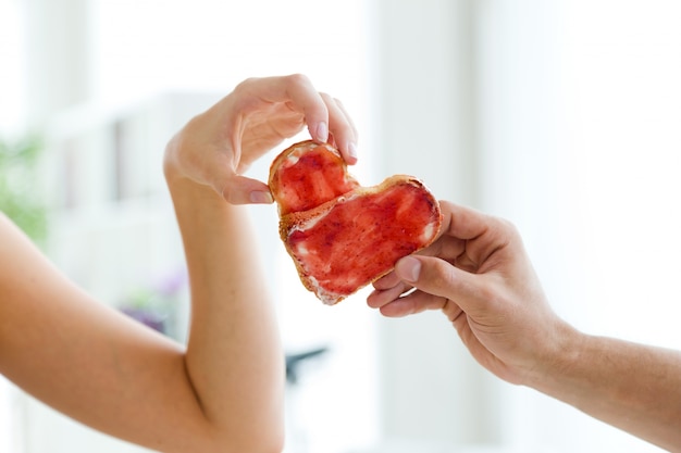
<svg viewBox="0 0 681 453">
<path fill-rule="evenodd" d="M 0 139 L 0 211 L 33 240 L 47 237 L 47 206 L 41 197 L 38 163 L 42 141 L 26 137 L 15 142 Z"/>
</svg>

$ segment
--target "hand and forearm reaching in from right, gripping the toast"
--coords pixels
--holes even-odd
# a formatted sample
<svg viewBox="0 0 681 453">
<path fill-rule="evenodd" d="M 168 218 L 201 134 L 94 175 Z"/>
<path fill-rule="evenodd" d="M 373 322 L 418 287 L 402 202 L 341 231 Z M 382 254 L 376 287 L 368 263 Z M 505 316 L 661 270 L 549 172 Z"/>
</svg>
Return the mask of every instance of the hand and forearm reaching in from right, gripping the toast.
<svg viewBox="0 0 681 453">
<path fill-rule="evenodd" d="M 549 307 L 512 225 L 441 209 L 442 236 L 377 280 L 368 304 L 391 317 L 441 310 L 499 378 L 681 451 L 681 353 L 578 331 Z"/>
</svg>

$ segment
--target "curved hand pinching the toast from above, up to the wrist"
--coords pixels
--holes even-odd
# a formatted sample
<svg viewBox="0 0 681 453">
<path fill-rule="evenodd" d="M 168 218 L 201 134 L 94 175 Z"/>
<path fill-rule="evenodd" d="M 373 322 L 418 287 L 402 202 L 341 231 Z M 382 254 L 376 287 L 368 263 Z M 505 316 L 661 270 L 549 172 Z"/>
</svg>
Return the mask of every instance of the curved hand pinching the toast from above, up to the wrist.
<svg viewBox="0 0 681 453">
<path fill-rule="evenodd" d="M 306 125 L 312 139 L 334 143 L 348 164 L 357 161 L 357 130 L 337 99 L 302 75 L 249 78 L 171 140 L 166 177 L 210 186 L 233 204 L 270 203 L 268 186 L 243 175 Z"/>
</svg>

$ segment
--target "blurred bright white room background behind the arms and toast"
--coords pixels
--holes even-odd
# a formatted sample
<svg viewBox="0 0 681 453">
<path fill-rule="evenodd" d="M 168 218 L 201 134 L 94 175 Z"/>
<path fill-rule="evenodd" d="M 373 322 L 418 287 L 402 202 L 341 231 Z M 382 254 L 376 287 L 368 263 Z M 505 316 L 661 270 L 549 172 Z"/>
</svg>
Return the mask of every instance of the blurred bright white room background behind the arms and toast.
<svg viewBox="0 0 681 453">
<path fill-rule="evenodd" d="M 304 73 L 352 115 L 362 183 L 412 174 L 511 219 L 561 316 L 681 348 L 679 23 L 676 0 L 0 0 L 0 203 L 184 341 L 165 142 L 242 79 Z M 492 377 L 439 313 L 323 306 L 273 206 L 251 213 L 286 353 L 323 351 L 288 380 L 288 453 L 658 451 Z M 144 450 L 0 380 L 0 452 L 95 451 Z"/>
</svg>

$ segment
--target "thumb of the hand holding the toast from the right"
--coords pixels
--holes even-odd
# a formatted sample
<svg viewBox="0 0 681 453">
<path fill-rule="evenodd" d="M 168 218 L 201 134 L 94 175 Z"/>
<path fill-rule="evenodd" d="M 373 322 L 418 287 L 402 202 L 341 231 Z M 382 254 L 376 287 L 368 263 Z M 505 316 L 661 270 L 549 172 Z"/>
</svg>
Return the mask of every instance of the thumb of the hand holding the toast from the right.
<svg viewBox="0 0 681 453">
<path fill-rule="evenodd" d="M 479 309 L 488 292 L 480 275 L 435 256 L 406 256 L 395 264 L 395 274 L 422 292 L 454 301 L 467 313 Z"/>
</svg>

